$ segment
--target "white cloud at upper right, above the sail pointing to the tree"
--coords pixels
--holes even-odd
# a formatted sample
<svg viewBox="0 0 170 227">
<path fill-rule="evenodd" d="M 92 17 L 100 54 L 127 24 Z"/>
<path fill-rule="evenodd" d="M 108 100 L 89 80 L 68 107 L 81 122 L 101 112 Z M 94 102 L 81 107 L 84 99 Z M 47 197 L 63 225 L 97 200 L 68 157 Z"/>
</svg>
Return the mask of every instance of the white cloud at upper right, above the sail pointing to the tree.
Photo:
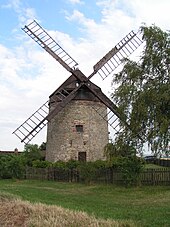
<svg viewBox="0 0 170 227">
<path fill-rule="evenodd" d="M 163 4 L 164 2 L 164 4 Z M 169 27 L 167 15 L 170 2 L 164 0 L 154 2 L 147 0 L 102 0 L 97 1 L 101 7 L 101 20 L 94 21 L 78 10 L 67 14 L 67 19 L 72 23 L 78 23 L 83 34 L 79 37 L 79 50 L 85 59 L 90 55 L 91 61 L 95 61 L 109 51 L 132 29 L 137 31 L 143 22 L 148 26 L 156 24 L 161 28 Z M 164 13 L 163 13 L 164 12 Z M 161 17 L 158 15 L 161 14 Z M 94 59 L 94 61 L 93 61 Z"/>
</svg>

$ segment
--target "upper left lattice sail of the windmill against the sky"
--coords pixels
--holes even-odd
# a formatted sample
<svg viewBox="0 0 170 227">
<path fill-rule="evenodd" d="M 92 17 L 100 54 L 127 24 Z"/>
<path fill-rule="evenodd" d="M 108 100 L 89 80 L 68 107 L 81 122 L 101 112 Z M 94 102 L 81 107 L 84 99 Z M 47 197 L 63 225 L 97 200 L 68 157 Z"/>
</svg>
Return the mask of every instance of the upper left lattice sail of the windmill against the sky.
<svg viewBox="0 0 170 227">
<path fill-rule="evenodd" d="M 65 69 L 72 72 L 78 63 L 34 20 L 22 30 L 44 48 Z"/>
</svg>

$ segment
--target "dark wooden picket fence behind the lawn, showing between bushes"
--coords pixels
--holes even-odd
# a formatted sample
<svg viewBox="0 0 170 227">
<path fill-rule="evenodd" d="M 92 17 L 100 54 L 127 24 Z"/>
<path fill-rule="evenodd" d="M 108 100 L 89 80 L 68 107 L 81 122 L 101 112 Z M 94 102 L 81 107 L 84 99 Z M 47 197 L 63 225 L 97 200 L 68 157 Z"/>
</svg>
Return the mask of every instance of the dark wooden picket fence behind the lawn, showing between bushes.
<svg viewBox="0 0 170 227">
<path fill-rule="evenodd" d="M 57 168 L 26 168 L 26 179 L 55 180 L 62 182 L 83 182 L 78 170 Z M 139 177 L 142 185 L 170 185 L 170 168 L 145 169 Z M 124 184 L 123 174 L 112 168 L 101 169 L 92 179 L 95 183 Z"/>
</svg>

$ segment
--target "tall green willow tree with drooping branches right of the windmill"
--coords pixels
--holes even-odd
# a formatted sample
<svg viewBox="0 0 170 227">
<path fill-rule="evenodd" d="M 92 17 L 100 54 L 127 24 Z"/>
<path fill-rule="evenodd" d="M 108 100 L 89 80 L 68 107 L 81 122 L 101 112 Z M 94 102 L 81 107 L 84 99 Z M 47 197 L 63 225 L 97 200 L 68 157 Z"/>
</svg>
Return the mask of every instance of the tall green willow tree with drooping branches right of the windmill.
<svg viewBox="0 0 170 227">
<path fill-rule="evenodd" d="M 169 153 L 170 32 L 155 25 L 142 26 L 141 32 L 145 47 L 140 60 L 125 59 L 123 70 L 113 78 L 117 88 L 112 98 L 135 132 L 125 129 L 118 141 L 147 143 L 154 153 Z"/>
</svg>

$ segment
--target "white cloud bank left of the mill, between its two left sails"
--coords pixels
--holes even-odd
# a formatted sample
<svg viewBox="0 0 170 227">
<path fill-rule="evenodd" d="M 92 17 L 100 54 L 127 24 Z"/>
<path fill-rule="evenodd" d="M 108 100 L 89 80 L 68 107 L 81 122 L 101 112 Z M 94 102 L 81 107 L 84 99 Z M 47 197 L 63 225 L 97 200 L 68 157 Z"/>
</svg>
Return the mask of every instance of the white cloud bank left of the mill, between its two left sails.
<svg viewBox="0 0 170 227">
<path fill-rule="evenodd" d="M 33 41 L 13 50 L 0 46 L 0 149 L 14 149 L 16 144 L 22 149 L 12 131 L 68 77 L 51 56 L 33 46 Z"/>
</svg>

